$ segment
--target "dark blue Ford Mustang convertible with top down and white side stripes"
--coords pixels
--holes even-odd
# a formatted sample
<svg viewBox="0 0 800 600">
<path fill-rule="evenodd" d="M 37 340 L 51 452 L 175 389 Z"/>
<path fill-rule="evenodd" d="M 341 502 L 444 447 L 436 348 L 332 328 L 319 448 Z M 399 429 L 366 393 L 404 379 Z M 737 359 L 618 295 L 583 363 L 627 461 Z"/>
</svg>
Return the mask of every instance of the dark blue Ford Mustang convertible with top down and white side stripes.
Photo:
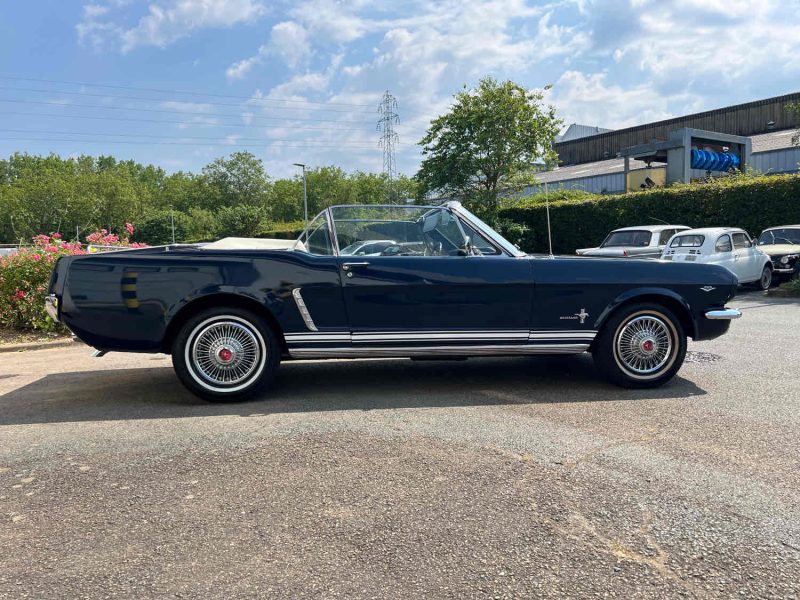
<svg viewBox="0 0 800 600">
<path fill-rule="evenodd" d="M 64 257 L 46 301 L 100 353 L 169 353 L 186 387 L 225 401 L 320 358 L 591 352 L 611 382 L 654 387 L 687 337 L 741 315 L 725 306 L 737 283 L 715 265 L 526 255 L 448 202 L 330 207 L 296 242 Z"/>
</svg>

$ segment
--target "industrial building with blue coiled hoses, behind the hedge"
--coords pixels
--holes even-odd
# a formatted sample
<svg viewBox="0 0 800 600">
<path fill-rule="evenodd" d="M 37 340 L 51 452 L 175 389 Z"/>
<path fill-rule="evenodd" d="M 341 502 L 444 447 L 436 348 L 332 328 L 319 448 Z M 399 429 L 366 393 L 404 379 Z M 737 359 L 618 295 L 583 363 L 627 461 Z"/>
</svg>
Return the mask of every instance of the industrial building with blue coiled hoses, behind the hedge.
<svg viewBox="0 0 800 600">
<path fill-rule="evenodd" d="M 621 193 L 733 170 L 795 173 L 800 92 L 684 117 L 607 130 L 573 124 L 556 141 L 559 166 L 536 176 L 526 195 L 550 189 Z"/>
</svg>

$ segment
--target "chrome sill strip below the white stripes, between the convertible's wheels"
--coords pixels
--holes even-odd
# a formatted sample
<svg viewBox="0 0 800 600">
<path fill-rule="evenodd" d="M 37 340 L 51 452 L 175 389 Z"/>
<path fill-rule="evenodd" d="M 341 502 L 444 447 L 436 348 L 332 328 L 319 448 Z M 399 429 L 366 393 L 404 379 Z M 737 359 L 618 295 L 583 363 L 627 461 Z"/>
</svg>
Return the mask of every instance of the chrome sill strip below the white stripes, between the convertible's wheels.
<svg viewBox="0 0 800 600">
<path fill-rule="evenodd" d="M 512 356 L 517 354 L 580 354 L 589 344 L 537 344 L 494 346 L 412 346 L 291 348 L 292 358 L 407 358 L 411 356 Z"/>
</svg>

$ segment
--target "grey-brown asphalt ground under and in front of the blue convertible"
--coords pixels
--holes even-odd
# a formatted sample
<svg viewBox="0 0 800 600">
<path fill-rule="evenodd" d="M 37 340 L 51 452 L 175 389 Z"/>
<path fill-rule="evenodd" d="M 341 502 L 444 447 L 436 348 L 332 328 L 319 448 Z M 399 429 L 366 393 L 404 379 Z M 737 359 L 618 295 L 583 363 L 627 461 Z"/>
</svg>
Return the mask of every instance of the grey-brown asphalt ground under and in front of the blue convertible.
<svg viewBox="0 0 800 600">
<path fill-rule="evenodd" d="M 318 361 L 209 405 L 164 356 L 0 354 L 0 597 L 797 597 L 800 303 L 732 304 L 650 391 Z"/>
</svg>

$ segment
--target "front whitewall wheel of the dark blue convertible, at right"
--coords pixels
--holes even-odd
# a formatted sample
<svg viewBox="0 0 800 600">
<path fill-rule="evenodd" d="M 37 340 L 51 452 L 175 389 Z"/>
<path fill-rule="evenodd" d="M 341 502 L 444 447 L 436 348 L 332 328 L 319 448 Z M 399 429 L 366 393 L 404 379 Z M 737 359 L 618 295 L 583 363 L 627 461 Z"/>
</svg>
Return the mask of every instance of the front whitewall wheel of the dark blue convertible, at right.
<svg viewBox="0 0 800 600">
<path fill-rule="evenodd" d="M 667 307 L 624 306 L 603 325 L 592 357 L 601 374 L 617 385 L 651 388 L 672 379 L 686 357 L 686 334 Z"/>
</svg>

